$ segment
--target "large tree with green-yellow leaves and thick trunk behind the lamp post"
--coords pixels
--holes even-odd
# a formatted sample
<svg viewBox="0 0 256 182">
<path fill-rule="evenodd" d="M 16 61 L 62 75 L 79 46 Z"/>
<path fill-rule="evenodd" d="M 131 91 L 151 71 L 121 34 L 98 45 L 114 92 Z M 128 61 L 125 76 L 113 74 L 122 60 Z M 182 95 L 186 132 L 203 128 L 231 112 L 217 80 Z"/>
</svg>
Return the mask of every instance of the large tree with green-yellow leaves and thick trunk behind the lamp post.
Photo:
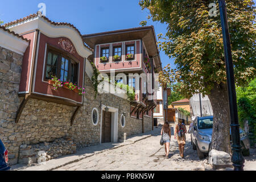
<svg viewBox="0 0 256 182">
<path fill-rule="evenodd" d="M 141 0 L 150 18 L 167 24 L 159 34 L 159 47 L 175 58 L 173 81 L 181 82 L 180 92 L 207 94 L 213 107 L 211 150 L 230 153 L 229 107 L 220 13 L 209 16 L 209 4 L 217 0 Z M 252 0 L 227 1 L 235 81 L 238 86 L 255 77 L 255 7 Z M 218 9 L 217 9 L 218 10 Z"/>
</svg>

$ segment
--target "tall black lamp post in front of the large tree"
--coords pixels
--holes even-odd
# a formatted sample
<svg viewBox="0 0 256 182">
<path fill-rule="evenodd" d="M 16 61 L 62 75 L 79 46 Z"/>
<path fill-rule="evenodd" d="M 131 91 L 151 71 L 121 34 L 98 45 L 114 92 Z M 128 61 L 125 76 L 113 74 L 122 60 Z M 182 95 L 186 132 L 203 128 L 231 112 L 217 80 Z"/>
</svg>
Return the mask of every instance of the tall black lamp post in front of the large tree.
<svg viewBox="0 0 256 182">
<path fill-rule="evenodd" d="M 225 52 L 225 64 L 226 64 L 226 78 L 228 85 L 228 97 L 229 97 L 229 116 L 230 116 L 230 127 L 232 137 L 232 158 L 231 161 L 234 166 L 234 171 L 243 171 L 243 163 L 245 160 L 242 156 L 242 146 L 240 142 L 240 130 L 238 124 L 237 114 L 237 98 L 236 98 L 236 87 L 234 84 L 234 70 L 233 60 L 230 45 L 228 18 L 226 14 L 226 3 L 225 0 L 218 0 L 220 7 L 221 27 L 224 43 Z"/>
</svg>

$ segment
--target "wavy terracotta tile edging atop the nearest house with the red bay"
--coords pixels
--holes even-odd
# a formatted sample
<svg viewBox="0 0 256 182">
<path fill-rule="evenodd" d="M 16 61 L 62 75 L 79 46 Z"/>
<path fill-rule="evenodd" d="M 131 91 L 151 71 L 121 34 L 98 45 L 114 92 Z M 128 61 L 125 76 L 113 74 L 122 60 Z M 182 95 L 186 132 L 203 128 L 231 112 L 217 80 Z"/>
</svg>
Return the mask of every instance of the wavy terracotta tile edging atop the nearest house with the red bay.
<svg viewBox="0 0 256 182">
<path fill-rule="evenodd" d="M 38 13 L 36 13 L 36 14 L 30 14 L 30 15 L 24 17 L 24 18 L 20 18 L 20 19 L 17 19 L 17 20 L 15 20 L 15 21 L 13 21 L 13 22 L 6 23 L 6 24 L 4 24 L 3 26 L 4 26 L 4 27 L 9 27 L 9 26 L 11 26 L 11 25 L 13 25 L 13 24 L 23 22 L 24 20 L 28 20 L 28 19 L 31 19 L 31 18 L 35 18 L 36 16 L 41 16 L 43 19 L 47 20 L 47 22 L 49 22 L 49 23 L 51 23 L 51 24 L 53 24 L 53 25 L 55 25 L 55 26 L 65 25 L 65 26 L 72 27 L 73 29 L 75 29 L 75 30 L 79 33 L 79 35 L 81 36 L 81 39 L 82 39 L 82 35 L 81 35 L 80 31 L 79 31 L 73 24 L 71 24 L 71 23 L 64 23 L 64 22 L 52 22 L 51 20 L 49 20 L 48 18 L 46 18 L 46 16 L 42 16 L 42 14 L 41 14 L 40 11 L 38 11 Z M 84 43 L 83 39 L 82 39 L 82 42 Z M 86 48 L 90 49 L 90 51 L 93 51 L 93 49 L 90 48 L 89 46 L 87 46 L 85 43 L 84 43 L 84 46 L 85 46 Z"/>
</svg>

